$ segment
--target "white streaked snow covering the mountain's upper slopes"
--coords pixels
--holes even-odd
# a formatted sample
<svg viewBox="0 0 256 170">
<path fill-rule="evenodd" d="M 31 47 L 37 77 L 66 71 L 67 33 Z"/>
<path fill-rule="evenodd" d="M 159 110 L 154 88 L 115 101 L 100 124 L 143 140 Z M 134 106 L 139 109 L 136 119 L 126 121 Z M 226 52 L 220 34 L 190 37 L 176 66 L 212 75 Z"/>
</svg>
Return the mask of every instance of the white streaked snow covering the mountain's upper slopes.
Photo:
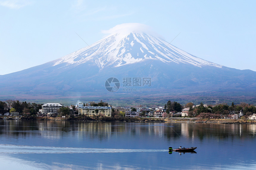
<svg viewBox="0 0 256 170">
<path fill-rule="evenodd" d="M 142 24 L 137 24 L 136 28 L 141 25 Z M 125 24 L 125 26 L 129 28 L 129 24 Z M 125 30 L 111 34 L 88 47 L 84 47 L 74 53 L 52 61 L 53 66 L 61 63 L 64 63 L 65 66 L 77 66 L 92 61 L 99 67 L 99 69 L 103 69 L 106 64 L 109 66 L 111 65 L 112 67 L 119 67 L 146 59 L 153 59 L 164 63 L 174 62 L 192 64 L 197 67 L 222 67 L 221 65 L 205 61 L 186 53 L 169 44 L 162 38 L 146 34 L 143 30 L 135 29 L 132 26 L 131 29 L 133 30 Z M 142 27 L 143 26 L 144 25 L 142 25 Z"/>
</svg>

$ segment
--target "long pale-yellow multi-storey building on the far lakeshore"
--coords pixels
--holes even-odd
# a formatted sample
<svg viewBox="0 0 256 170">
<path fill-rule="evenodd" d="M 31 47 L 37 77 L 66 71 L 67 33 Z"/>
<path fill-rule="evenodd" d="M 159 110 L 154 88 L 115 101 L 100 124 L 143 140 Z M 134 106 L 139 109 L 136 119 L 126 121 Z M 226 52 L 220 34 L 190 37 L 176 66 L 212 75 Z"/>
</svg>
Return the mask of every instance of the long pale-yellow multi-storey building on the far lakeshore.
<svg viewBox="0 0 256 170">
<path fill-rule="evenodd" d="M 95 116 L 95 115 L 104 115 L 104 116 L 111 116 L 111 107 L 110 105 L 107 106 L 83 106 L 83 103 L 78 104 L 78 114 L 79 115 L 88 115 L 88 116 Z"/>
</svg>

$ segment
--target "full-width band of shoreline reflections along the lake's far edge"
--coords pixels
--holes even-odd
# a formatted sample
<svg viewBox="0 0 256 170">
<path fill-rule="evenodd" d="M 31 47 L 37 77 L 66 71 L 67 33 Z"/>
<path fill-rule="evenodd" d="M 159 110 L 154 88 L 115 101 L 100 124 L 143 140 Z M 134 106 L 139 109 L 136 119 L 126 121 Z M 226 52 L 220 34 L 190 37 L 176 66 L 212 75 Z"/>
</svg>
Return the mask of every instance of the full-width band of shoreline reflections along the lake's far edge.
<svg viewBox="0 0 256 170">
<path fill-rule="evenodd" d="M 70 122 L 70 121 L 21 121 L 0 120 L 0 134 L 14 138 L 26 135 L 40 135 L 44 138 L 59 139 L 61 136 L 73 135 L 78 138 L 100 142 L 120 140 L 129 142 L 138 139 L 164 136 L 173 141 L 186 137 L 198 138 L 254 138 L 256 126 L 253 124 L 219 124 L 219 123 L 118 123 L 118 122 Z M 154 136 L 154 137 L 153 137 Z M 127 138 L 129 140 L 127 140 Z M 143 141 L 141 141 L 143 142 Z"/>
</svg>

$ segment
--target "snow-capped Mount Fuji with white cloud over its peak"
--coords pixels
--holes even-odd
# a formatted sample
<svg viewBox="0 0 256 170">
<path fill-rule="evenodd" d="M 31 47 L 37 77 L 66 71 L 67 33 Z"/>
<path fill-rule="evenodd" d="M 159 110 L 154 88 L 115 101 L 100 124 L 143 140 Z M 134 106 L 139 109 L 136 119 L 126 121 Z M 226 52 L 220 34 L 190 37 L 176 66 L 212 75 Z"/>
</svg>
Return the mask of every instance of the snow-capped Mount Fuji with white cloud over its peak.
<svg viewBox="0 0 256 170">
<path fill-rule="evenodd" d="M 255 95 L 256 72 L 198 58 L 143 24 L 121 24 L 110 32 L 106 38 L 54 61 L 1 75 L 1 96 L 129 95 L 127 88 L 148 88 L 147 94 Z M 105 87 L 111 77 L 120 83 L 117 88 L 116 81 L 108 81 L 115 93 Z M 150 84 L 144 84 L 143 78 Z"/>
</svg>

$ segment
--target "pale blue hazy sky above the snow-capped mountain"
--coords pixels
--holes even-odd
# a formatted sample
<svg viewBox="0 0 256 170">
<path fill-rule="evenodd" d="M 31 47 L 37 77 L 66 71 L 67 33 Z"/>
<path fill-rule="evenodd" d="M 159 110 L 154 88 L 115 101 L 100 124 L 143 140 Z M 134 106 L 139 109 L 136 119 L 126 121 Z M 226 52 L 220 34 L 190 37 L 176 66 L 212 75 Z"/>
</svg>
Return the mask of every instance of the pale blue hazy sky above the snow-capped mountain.
<svg viewBox="0 0 256 170">
<path fill-rule="evenodd" d="M 0 0 L 0 75 L 63 57 L 122 23 L 151 26 L 167 42 L 180 33 L 172 45 L 256 71 L 255 9 L 256 1 Z"/>
</svg>

